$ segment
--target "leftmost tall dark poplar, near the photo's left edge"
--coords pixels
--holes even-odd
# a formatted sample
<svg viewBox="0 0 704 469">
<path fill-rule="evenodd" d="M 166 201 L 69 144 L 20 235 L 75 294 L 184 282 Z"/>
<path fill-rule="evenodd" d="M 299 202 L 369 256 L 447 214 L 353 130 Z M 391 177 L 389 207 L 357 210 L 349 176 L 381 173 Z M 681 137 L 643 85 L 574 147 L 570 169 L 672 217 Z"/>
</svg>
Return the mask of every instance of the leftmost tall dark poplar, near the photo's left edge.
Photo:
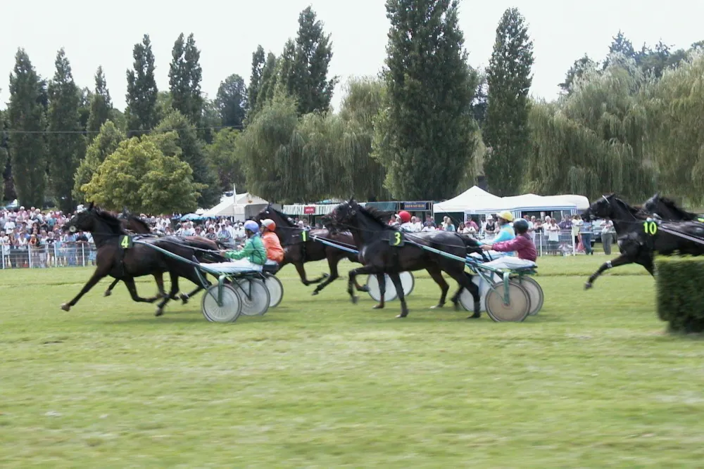
<svg viewBox="0 0 704 469">
<path fill-rule="evenodd" d="M 34 71 L 24 49 L 15 54 L 15 67 L 10 74 L 8 127 L 10 158 L 15 190 L 20 204 L 41 207 L 46 189 L 46 116 L 44 115 L 43 82 Z"/>
</svg>

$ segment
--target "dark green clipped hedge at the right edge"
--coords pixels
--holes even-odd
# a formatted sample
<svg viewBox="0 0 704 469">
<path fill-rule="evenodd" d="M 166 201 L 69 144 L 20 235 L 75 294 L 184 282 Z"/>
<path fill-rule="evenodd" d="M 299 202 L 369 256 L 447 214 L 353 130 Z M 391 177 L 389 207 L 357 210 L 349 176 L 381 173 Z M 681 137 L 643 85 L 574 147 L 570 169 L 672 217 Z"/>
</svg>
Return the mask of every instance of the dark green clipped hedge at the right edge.
<svg viewBox="0 0 704 469">
<path fill-rule="evenodd" d="M 673 332 L 704 332 L 704 257 L 657 257 L 658 316 Z"/>
</svg>

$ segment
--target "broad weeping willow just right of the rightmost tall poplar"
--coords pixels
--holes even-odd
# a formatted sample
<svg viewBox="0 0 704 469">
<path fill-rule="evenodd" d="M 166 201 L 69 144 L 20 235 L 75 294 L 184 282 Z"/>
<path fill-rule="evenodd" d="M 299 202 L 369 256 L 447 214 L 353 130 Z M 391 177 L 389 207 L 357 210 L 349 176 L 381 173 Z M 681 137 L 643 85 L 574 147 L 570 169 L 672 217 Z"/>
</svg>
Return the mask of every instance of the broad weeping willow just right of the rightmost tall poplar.
<svg viewBox="0 0 704 469">
<path fill-rule="evenodd" d="M 524 189 L 590 198 L 616 192 L 634 201 L 652 195 L 655 173 L 643 153 L 646 113 L 638 93 L 643 75 L 633 60 L 616 59 L 601 73 L 584 72 L 570 96 L 535 103 Z"/>
</svg>

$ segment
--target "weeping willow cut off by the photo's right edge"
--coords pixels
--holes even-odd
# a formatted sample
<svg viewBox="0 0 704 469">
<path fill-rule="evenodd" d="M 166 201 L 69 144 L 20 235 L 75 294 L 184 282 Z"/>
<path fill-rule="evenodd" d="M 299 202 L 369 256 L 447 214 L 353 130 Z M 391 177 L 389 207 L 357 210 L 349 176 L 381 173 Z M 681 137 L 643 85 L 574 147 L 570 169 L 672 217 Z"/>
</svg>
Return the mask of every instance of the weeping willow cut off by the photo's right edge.
<svg viewBox="0 0 704 469">
<path fill-rule="evenodd" d="M 643 91 L 646 148 L 658 168 L 660 191 L 704 202 L 704 53 L 691 55 Z"/>
</svg>

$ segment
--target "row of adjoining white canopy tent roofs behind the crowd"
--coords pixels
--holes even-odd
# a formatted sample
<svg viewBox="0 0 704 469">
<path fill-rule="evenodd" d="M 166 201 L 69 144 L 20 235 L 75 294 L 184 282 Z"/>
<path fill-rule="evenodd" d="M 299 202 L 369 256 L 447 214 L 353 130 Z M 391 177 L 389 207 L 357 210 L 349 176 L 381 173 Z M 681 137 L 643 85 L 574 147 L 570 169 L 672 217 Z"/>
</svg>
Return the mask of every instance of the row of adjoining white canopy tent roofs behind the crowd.
<svg viewBox="0 0 704 469">
<path fill-rule="evenodd" d="M 521 212 L 576 213 L 589 208 L 589 199 L 583 195 L 536 195 L 523 194 L 513 197 L 497 197 L 477 186 L 473 186 L 457 197 L 436 203 L 434 213 L 463 212 L 465 214 L 494 214 L 503 210 L 520 217 Z"/>
</svg>

